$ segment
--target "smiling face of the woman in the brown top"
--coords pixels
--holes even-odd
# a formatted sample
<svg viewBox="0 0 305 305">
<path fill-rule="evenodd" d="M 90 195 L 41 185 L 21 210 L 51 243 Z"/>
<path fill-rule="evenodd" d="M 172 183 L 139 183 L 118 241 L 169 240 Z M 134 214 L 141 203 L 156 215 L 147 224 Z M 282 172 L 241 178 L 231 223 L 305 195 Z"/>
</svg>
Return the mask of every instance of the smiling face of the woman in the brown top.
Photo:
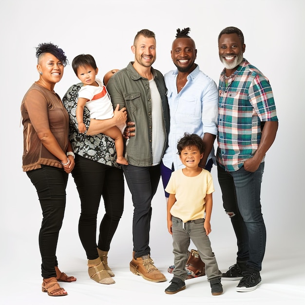
<svg viewBox="0 0 305 305">
<path fill-rule="evenodd" d="M 43 53 L 38 60 L 37 70 L 43 82 L 54 85 L 63 76 L 64 66 L 57 57 L 51 53 Z M 42 75 L 41 75 L 42 73 Z"/>
</svg>

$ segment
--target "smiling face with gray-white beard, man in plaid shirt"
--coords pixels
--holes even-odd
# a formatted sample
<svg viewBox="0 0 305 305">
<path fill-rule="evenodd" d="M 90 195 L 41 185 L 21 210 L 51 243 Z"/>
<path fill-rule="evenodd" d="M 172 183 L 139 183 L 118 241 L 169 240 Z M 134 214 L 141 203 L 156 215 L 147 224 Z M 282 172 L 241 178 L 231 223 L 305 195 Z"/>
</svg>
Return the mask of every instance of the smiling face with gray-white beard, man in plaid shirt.
<svg viewBox="0 0 305 305">
<path fill-rule="evenodd" d="M 219 38 L 219 58 L 229 73 L 234 73 L 237 66 L 243 61 L 245 49 L 246 45 L 242 44 L 236 33 L 223 34 Z"/>
</svg>

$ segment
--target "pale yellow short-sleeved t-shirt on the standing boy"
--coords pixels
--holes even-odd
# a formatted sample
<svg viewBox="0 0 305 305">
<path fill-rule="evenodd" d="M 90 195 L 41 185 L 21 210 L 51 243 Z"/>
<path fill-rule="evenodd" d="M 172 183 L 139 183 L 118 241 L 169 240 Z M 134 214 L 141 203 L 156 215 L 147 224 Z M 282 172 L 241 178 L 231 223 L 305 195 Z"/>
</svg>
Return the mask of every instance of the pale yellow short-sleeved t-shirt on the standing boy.
<svg viewBox="0 0 305 305">
<path fill-rule="evenodd" d="M 215 190 L 209 171 L 202 170 L 199 175 L 188 177 L 181 169 L 172 172 L 165 191 L 176 197 L 176 202 L 171 209 L 172 216 L 187 222 L 204 218 L 205 197 Z"/>
</svg>

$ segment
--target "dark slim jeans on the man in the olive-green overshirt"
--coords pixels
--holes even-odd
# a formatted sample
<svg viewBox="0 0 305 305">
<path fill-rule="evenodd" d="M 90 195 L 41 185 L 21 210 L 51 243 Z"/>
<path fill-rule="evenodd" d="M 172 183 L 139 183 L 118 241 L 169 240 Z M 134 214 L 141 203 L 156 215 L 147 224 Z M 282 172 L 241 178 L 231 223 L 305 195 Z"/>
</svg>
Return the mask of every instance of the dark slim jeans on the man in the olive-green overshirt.
<svg viewBox="0 0 305 305">
<path fill-rule="evenodd" d="M 160 180 L 160 166 L 122 166 L 133 198 L 133 251 L 135 257 L 151 253 L 149 233 L 152 217 L 152 197 Z"/>
</svg>

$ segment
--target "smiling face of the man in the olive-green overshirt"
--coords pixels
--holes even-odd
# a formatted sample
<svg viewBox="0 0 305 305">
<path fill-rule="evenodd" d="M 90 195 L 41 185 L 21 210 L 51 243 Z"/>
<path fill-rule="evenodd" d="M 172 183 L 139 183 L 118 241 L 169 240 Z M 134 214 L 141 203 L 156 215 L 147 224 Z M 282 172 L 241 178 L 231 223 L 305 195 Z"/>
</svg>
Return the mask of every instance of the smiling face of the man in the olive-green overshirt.
<svg viewBox="0 0 305 305">
<path fill-rule="evenodd" d="M 156 40 L 140 35 L 132 46 L 134 59 L 144 67 L 150 67 L 156 60 Z"/>
</svg>

